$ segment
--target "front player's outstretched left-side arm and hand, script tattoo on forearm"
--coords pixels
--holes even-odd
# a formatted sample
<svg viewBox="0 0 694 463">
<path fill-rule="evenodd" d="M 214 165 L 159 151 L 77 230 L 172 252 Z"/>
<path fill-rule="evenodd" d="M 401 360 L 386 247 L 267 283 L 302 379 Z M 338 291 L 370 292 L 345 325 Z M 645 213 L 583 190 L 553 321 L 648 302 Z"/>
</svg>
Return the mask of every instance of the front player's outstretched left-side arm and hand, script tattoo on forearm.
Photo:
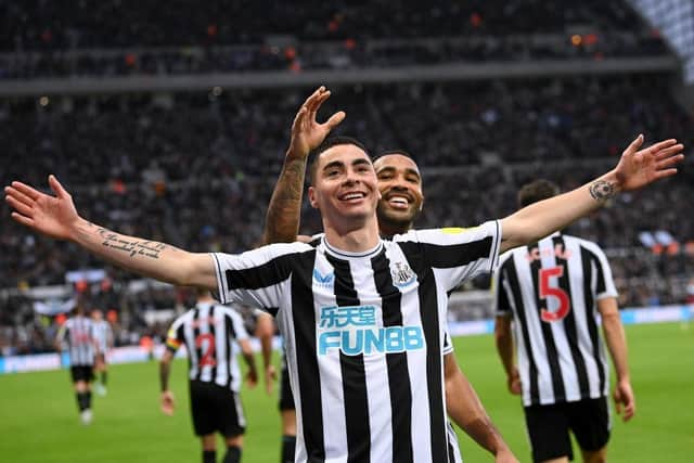
<svg viewBox="0 0 694 463">
<path fill-rule="evenodd" d="M 81 218 L 69 193 L 54 176 L 49 185 L 55 196 L 15 181 L 5 187 L 12 218 L 39 233 L 72 241 L 126 270 L 168 283 L 217 288 L 213 258 L 167 244 L 127 236 Z"/>
</svg>

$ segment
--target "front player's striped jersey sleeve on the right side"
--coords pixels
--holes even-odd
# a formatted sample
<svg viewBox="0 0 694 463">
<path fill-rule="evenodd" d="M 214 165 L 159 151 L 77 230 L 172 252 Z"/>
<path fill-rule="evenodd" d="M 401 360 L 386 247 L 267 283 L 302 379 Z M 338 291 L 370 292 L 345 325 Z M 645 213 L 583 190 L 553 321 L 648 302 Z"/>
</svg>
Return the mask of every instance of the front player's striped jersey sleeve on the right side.
<svg viewBox="0 0 694 463">
<path fill-rule="evenodd" d="M 471 229 L 416 230 L 397 241 L 420 243 L 427 263 L 444 280 L 447 291 L 463 281 L 491 272 L 499 259 L 501 222 L 492 220 Z"/>
</svg>

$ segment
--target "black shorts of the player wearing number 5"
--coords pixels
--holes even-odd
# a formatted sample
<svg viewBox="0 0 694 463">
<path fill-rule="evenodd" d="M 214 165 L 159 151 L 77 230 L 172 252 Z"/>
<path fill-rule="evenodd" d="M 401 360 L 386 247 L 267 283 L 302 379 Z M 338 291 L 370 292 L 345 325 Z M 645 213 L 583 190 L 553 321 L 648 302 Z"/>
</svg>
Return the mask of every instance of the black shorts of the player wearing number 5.
<svg viewBox="0 0 694 463">
<path fill-rule="evenodd" d="M 607 398 L 586 399 L 549 406 L 525 408 L 532 460 L 568 456 L 574 460 L 569 430 L 582 450 L 600 450 L 609 440 Z"/>
</svg>

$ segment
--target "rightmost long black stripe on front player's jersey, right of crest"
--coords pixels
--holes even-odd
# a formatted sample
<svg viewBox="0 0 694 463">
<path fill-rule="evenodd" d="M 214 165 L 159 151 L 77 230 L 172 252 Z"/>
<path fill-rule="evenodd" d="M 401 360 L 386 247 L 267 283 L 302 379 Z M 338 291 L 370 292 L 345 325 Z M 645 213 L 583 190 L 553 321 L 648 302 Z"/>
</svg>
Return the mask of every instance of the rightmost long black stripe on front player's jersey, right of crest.
<svg viewBox="0 0 694 463">
<path fill-rule="evenodd" d="M 420 282 L 420 318 L 426 340 L 426 384 L 429 398 L 429 426 L 432 429 L 432 461 L 448 460 L 448 437 L 446 433 L 446 413 L 441 394 L 442 359 L 439 342 L 440 325 L 438 320 L 438 297 L 434 270 L 426 262 L 430 261 L 427 246 L 416 243 L 398 243 L 404 253 L 410 267 Z M 441 246 L 435 246 L 441 247 Z M 453 246 L 455 247 L 455 246 Z M 442 247 L 441 247 L 442 248 Z M 440 252 L 440 250 L 439 250 Z M 440 257 L 440 256 L 439 256 Z M 460 261 L 457 265 L 462 265 Z"/>
</svg>

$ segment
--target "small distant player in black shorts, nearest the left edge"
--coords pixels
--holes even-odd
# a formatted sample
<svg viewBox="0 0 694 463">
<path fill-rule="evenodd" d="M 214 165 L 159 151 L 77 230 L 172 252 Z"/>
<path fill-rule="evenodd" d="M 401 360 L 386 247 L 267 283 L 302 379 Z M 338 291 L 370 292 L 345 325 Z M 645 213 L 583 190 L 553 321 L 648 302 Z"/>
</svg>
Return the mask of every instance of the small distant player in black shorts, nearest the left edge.
<svg viewBox="0 0 694 463">
<path fill-rule="evenodd" d="M 97 345 L 94 342 L 92 321 L 85 314 L 81 303 L 77 303 L 73 316 L 57 331 L 55 350 L 63 350 L 63 343 L 67 342 L 69 351 L 69 372 L 77 396 L 77 407 L 82 424 L 92 421 L 91 382 L 94 377 L 94 358 Z"/>
</svg>

